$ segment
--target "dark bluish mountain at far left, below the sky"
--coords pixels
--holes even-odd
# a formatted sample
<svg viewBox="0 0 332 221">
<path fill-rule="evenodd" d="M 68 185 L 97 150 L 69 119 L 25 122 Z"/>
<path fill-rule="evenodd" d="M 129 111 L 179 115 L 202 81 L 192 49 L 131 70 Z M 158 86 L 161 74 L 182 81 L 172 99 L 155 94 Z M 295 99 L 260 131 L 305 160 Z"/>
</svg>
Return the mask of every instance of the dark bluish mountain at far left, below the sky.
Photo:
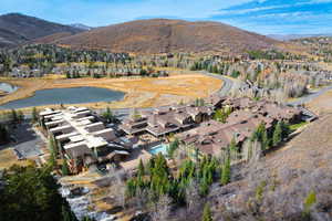
<svg viewBox="0 0 332 221">
<path fill-rule="evenodd" d="M 76 34 L 82 30 L 20 13 L 0 15 L 0 48 L 17 46 L 38 38 L 61 32 Z"/>
</svg>

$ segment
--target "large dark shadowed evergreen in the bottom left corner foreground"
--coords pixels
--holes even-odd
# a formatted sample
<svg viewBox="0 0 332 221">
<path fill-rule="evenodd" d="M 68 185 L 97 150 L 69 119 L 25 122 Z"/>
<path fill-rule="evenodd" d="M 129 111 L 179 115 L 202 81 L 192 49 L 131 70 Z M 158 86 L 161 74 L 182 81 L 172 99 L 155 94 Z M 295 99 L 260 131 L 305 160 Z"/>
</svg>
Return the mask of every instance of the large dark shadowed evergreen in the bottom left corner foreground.
<svg viewBox="0 0 332 221">
<path fill-rule="evenodd" d="M 1 221 L 76 221 L 49 167 L 13 166 L 1 179 Z"/>
</svg>

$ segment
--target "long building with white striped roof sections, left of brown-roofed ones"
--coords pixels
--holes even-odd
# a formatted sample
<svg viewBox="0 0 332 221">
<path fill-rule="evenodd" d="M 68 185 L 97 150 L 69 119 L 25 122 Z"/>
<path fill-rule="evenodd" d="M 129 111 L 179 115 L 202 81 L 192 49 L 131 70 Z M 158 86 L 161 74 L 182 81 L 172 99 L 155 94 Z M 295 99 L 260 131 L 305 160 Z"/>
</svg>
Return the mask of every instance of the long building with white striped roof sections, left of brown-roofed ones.
<svg viewBox="0 0 332 221">
<path fill-rule="evenodd" d="M 118 161 L 129 155 L 131 141 L 117 137 L 113 128 L 106 128 L 85 107 L 46 108 L 40 113 L 40 119 L 73 172 L 91 164 Z"/>
</svg>

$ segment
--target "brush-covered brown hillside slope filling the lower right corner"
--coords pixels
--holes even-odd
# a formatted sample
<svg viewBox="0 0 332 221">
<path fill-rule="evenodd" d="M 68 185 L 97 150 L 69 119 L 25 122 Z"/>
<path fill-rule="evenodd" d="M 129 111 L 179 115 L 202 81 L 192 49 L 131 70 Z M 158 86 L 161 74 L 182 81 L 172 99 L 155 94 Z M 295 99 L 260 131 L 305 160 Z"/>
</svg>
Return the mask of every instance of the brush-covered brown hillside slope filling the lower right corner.
<svg viewBox="0 0 332 221">
<path fill-rule="evenodd" d="M 332 115 L 210 192 L 214 220 L 331 220 Z M 236 176 L 235 176 L 236 177 Z"/>
</svg>

